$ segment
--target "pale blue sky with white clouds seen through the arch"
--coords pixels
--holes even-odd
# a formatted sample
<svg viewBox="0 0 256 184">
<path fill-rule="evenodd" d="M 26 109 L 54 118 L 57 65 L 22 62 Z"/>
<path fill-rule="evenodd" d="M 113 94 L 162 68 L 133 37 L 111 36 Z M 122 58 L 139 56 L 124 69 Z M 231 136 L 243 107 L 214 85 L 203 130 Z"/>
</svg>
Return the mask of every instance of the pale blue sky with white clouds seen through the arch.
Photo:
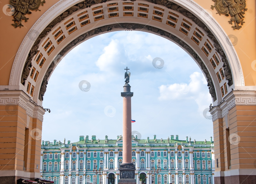
<svg viewBox="0 0 256 184">
<path fill-rule="evenodd" d="M 76 142 L 80 135 L 89 139 L 121 135 L 120 93 L 126 66 L 134 92 L 133 134 L 141 139 L 153 139 L 154 134 L 157 139 L 176 134 L 183 140 L 213 137 L 210 113 L 206 113 L 212 99 L 196 62 L 160 36 L 118 31 L 83 42 L 58 64 L 44 96 L 43 107 L 51 113 L 44 115 L 42 140 Z"/>
</svg>

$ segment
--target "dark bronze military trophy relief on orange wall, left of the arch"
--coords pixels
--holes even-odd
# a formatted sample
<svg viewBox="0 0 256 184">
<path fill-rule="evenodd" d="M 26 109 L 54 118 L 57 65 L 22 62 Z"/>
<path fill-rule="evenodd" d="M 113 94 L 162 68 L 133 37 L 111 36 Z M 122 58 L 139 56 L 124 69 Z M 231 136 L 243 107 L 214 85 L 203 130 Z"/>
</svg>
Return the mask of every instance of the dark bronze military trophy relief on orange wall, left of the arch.
<svg viewBox="0 0 256 184">
<path fill-rule="evenodd" d="M 27 22 L 28 18 L 25 16 L 27 14 L 31 14 L 32 12 L 30 10 L 39 10 L 40 5 L 44 5 L 45 0 L 10 0 L 10 5 L 13 7 L 13 16 L 14 16 L 14 26 L 17 27 L 23 27 L 21 21 L 24 20 Z"/>
</svg>

